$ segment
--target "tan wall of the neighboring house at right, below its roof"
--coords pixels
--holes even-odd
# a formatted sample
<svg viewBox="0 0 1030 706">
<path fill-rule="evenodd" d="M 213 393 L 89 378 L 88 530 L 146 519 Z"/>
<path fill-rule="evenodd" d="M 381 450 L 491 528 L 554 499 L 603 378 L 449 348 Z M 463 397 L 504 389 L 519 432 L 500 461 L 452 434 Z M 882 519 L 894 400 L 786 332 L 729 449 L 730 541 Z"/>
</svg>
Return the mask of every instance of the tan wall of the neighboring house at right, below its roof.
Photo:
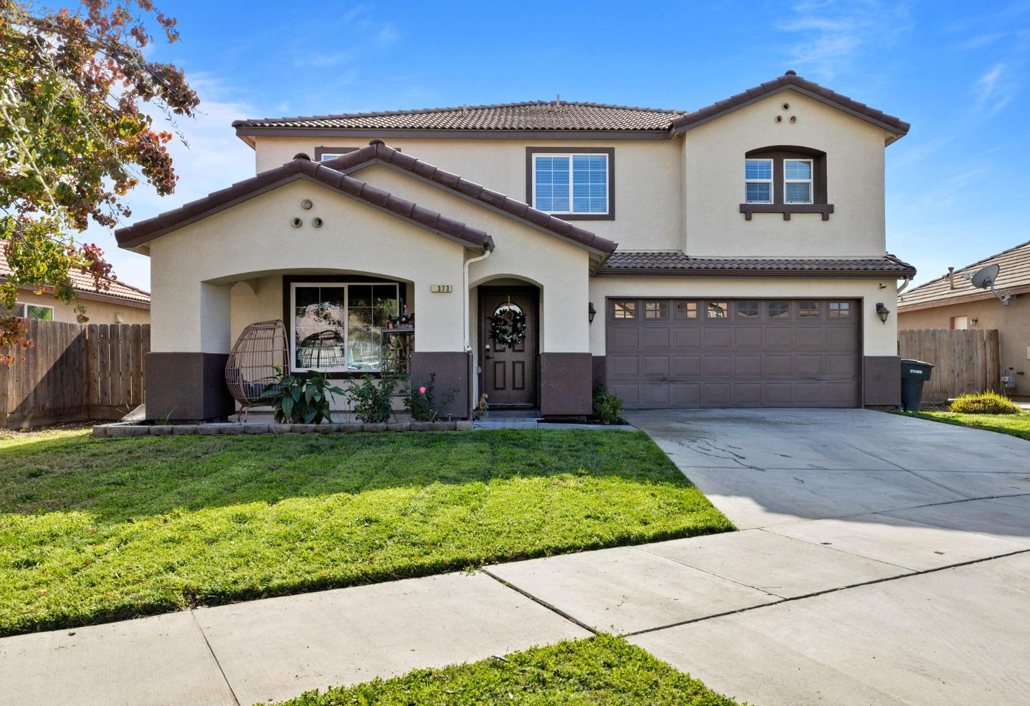
<svg viewBox="0 0 1030 706">
<path fill-rule="evenodd" d="M 952 317 L 968 316 L 970 329 L 997 329 L 1002 368 L 1016 368 L 1016 394 L 1030 396 L 1030 296 L 1012 297 L 1002 306 L 994 297 L 964 304 L 902 311 L 899 329 L 950 329 Z M 976 320 L 976 324 L 972 320 Z"/>
</svg>

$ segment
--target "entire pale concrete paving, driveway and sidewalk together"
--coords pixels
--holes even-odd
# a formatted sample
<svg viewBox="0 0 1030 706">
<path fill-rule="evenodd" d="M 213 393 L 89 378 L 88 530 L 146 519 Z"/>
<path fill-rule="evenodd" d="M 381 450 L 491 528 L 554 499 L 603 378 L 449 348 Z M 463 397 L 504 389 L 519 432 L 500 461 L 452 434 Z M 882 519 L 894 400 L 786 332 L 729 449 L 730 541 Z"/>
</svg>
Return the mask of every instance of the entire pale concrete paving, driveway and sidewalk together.
<svg viewBox="0 0 1030 706">
<path fill-rule="evenodd" d="M 0 704 L 250 704 L 597 630 L 754 703 L 1024 700 L 1030 444 L 845 411 L 631 419 L 742 532 L 5 638 Z"/>
</svg>

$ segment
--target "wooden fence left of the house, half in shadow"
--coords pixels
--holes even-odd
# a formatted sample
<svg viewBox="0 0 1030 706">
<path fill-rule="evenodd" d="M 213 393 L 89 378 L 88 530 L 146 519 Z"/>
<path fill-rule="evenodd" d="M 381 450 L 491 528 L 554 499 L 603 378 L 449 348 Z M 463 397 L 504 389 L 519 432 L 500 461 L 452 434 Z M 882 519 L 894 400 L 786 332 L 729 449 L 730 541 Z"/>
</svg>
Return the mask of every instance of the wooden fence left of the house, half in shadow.
<svg viewBox="0 0 1030 706">
<path fill-rule="evenodd" d="M 143 403 L 149 325 L 31 321 L 28 338 L 0 365 L 0 428 L 117 419 Z"/>
</svg>

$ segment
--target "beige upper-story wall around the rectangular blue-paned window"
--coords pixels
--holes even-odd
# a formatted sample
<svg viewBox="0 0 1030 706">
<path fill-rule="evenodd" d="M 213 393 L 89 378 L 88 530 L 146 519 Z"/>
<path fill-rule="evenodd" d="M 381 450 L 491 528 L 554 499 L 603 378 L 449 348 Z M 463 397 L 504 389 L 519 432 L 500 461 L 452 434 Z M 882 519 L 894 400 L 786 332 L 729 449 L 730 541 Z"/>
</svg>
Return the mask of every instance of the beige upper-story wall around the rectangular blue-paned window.
<svg viewBox="0 0 1030 706">
<path fill-rule="evenodd" d="M 278 167 L 315 146 L 360 147 L 369 138 L 255 137 L 258 171 Z M 383 139 L 391 147 L 513 199 L 526 198 L 525 149 L 534 147 L 614 147 L 615 220 L 577 221 L 576 225 L 614 240 L 622 249 L 680 249 L 682 243 L 682 165 L 679 139 L 673 140 L 507 140 Z M 743 189 L 743 187 L 742 187 Z"/>
</svg>

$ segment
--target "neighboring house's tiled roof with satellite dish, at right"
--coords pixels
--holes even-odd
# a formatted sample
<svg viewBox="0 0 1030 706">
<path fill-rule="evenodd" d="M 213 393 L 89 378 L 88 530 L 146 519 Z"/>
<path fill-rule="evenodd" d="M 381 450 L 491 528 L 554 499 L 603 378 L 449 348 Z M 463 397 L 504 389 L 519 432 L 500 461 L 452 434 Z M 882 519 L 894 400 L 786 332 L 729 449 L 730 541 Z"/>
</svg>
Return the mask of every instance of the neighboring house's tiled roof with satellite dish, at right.
<svg viewBox="0 0 1030 706">
<path fill-rule="evenodd" d="M 990 290 L 977 289 L 962 276 L 973 274 L 986 265 L 1000 267 L 994 287 L 1002 295 L 1030 293 L 1030 241 L 1027 241 L 957 269 L 951 276 L 945 274 L 925 284 L 902 292 L 898 297 L 898 311 L 927 309 L 994 297 Z"/>
</svg>

